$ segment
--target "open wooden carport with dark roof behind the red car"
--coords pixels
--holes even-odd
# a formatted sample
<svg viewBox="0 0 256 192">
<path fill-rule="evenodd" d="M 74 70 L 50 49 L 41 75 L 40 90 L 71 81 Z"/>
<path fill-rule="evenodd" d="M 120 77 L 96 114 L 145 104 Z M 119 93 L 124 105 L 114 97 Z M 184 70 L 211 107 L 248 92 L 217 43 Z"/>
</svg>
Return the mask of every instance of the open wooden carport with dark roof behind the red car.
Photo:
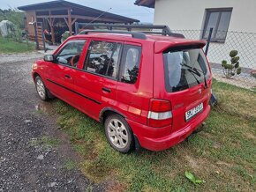
<svg viewBox="0 0 256 192">
<path fill-rule="evenodd" d="M 64 0 L 56 0 L 41 4 L 29 4 L 18 7 L 25 11 L 26 31 L 30 36 L 34 36 L 34 26 L 30 25 L 34 21 L 40 22 L 43 29 L 51 33 L 51 40 L 56 41 L 55 33 L 74 31 L 74 23 L 124 23 L 132 24 L 139 22 L 137 19 L 126 18 L 108 11 L 96 10 L 84 5 L 73 4 Z M 60 36 L 60 35 L 58 35 Z M 59 41 L 59 40 L 58 40 Z"/>
</svg>

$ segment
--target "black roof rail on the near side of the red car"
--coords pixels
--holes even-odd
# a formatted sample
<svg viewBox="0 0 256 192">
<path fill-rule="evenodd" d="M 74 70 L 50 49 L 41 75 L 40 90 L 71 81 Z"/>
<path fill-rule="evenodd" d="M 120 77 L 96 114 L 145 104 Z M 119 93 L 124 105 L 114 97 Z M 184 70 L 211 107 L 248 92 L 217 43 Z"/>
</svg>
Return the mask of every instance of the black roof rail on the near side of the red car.
<svg viewBox="0 0 256 192">
<path fill-rule="evenodd" d="M 139 40 L 146 40 L 147 36 L 145 33 L 140 32 L 125 32 L 125 31 L 111 31 L 111 30 L 84 30 L 78 34 L 88 34 L 88 33 L 117 33 L 117 34 L 131 34 L 132 38 Z"/>
</svg>

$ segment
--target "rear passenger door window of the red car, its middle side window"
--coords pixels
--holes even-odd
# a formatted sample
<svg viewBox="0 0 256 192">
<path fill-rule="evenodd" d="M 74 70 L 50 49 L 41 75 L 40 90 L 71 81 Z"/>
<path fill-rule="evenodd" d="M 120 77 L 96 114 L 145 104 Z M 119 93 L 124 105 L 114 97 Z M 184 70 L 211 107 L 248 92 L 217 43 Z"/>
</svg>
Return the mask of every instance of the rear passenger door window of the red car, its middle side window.
<svg viewBox="0 0 256 192">
<path fill-rule="evenodd" d="M 110 78 L 117 78 L 117 64 L 121 44 L 108 41 L 92 41 L 88 48 L 85 70 Z"/>
</svg>

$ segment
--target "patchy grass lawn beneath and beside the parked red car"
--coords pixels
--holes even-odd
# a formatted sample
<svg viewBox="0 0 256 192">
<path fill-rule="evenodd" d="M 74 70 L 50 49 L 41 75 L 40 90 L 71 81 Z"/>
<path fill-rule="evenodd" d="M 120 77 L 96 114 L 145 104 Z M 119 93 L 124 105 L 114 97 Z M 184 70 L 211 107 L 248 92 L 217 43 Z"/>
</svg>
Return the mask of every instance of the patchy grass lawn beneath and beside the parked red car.
<svg viewBox="0 0 256 192">
<path fill-rule="evenodd" d="M 82 162 L 77 165 L 109 191 L 255 191 L 256 94 L 214 82 L 219 105 L 207 128 L 166 151 L 123 155 L 112 150 L 102 124 L 60 100 L 58 123 L 71 137 Z M 193 184 L 184 172 L 203 180 Z"/>
</svg>

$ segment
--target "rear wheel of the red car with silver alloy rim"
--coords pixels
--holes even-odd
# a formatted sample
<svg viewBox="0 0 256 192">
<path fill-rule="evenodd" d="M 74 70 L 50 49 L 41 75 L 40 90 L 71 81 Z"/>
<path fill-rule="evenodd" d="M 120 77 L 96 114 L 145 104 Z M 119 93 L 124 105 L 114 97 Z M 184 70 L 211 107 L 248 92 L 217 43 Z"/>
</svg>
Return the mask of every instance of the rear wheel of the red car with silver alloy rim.
<svg viewBox="0 0 256 192">
<path fill-rule="evenodd" d="M 134 149 L 132 129 L 119 114 L 111 114 L 104 122 L 105 135 L 109 144 L 122 153 L 129 153 Z"/>
</svg>

